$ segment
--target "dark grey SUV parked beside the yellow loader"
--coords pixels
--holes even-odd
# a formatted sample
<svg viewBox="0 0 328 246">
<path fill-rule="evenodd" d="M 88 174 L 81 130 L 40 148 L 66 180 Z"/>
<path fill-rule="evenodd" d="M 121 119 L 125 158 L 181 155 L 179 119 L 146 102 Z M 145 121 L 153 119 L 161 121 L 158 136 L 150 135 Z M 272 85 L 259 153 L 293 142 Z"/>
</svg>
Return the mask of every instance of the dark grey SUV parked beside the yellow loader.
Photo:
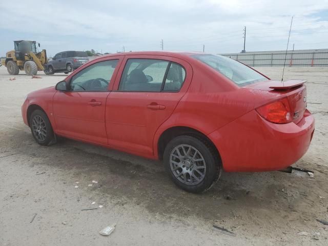
<svg viewBox="0 0 328 246">
<path fill-rule="evenodd" d="M 59 52 L 46 65 L 49 74 L 70 73 L 79 68 L 89 60 L 87 52 L 84 51 L 64 51 Z"/>
</svg>

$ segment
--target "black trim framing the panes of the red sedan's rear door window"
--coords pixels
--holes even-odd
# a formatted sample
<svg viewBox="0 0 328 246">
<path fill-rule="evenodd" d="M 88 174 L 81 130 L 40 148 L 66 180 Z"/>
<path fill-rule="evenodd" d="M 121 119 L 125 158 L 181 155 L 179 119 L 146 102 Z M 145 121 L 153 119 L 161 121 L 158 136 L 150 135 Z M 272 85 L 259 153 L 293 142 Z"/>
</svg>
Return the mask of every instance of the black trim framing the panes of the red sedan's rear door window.
<svg viewBox="0 0 328 246">
<path fill-rule="evenodd" d="M 134 59 L 134 60 L 141 60 L 141 59 L 143 59 L 143 60 L 161 60 L 161 61 L 168 61 L 168 66 L 167 66 L 167 68 L 166 68 L 166 71 L 165 71 L 165 74 L 164 74 L 164 77 L 163 77 L 163 80 L 162 80 L 162 84 L 161 84 L 161 87 L 160 87 L 160 90 L 159 90 L 159 91 L 122 91 L 122 90 L 119 90 L 119 86 L 120 86 L 120 84 L 121 84 L 121 79 L 122 79 L 122 76 L 123 76 L 124 70 L 125 70 L 125 68 L 126 68 L 126 66 L 127 66 L 128 60 L 133 60 L 133 59 Z M 170 91 L 169 91 L 169 90 L 163 90 L 164 87 L 165 87 L 166 78 L 167 78 L 167 75 L 168 75 L 168 73 L 169 73 L 169 70 L 170 70 L 170 67 L 171 67 L 171 64 L 172 64 L 172 63 L 175 63 L 175 64 L 179 65 L 183 70 L 185 70 L 185 74 L 186 74 L 186 76 L 185 76 L 185 78 L 183 79 L 182 84 L 181 84 L 181 87 L 180 87 L 179 90 L 175 90 L 175 91 L 172 91 L 172 90 L 170 90 Z M 145 92 L 151 92 L 151 93 L 162 93 L 162 92 L 164 92 L 164 93 L 168 93 L 168 92 L 169 92 L 169 93 L 178 93 L 178 92 L 180 92 L 180 90 L 181 90 L 183 84 L 185 84 L 186 78 L 187 78 L 187 70 L 186 70 L 186 68 L 183 67 L 181 64 L 175 62 L 175 61 L 166 60 L 166 59 L 156 59 L 156 58 L 137 58 L 137 57 L 136 57 L 136 58 L 127 58 L 127 60 L 126 60 L 126 62 L 125 62 L 125 64 L 124 64 L 124 68 L 123 68 L 122 73 L 121 73 L 121 77 L 120 77 L 120 79 L 119 79 L 119 83 L 118 83 L 117 90 L 113 90 L 113 92 L 142 92 L 142 93 L 145 93 Z"/>
</svg>

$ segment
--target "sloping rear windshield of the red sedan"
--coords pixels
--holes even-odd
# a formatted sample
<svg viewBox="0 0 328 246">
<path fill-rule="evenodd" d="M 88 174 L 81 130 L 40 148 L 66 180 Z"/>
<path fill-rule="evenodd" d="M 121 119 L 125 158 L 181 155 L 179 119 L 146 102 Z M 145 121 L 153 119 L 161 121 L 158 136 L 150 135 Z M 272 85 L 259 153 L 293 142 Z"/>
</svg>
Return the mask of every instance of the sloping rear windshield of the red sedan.
<svg viewBox="0 0 328 246">
<path fill-rule="evenodd" d="M 268 80 L 268 78 L 253 69 L 222 55 L 201 54 L 192 57 L 214 68 L 240 87 Z"/>
</svg>

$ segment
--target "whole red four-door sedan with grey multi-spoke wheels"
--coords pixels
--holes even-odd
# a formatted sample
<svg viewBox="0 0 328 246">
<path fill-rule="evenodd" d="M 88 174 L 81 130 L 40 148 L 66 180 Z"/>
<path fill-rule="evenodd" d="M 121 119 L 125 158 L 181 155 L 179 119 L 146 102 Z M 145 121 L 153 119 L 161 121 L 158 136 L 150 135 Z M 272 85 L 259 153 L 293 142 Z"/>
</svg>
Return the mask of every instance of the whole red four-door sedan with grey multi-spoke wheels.
<svg viewBox="0 0 328 246">
<path fill-rule="evenodd" d="M 314 132 L 304 82 L 218 55 L 119 53 L 28 94 L 22 114 L 40 145 L 64 136 L 162 159 L 176 185 L 202 192 L 222 170 L 280 170 L 304 155 Z"/>
</svg>

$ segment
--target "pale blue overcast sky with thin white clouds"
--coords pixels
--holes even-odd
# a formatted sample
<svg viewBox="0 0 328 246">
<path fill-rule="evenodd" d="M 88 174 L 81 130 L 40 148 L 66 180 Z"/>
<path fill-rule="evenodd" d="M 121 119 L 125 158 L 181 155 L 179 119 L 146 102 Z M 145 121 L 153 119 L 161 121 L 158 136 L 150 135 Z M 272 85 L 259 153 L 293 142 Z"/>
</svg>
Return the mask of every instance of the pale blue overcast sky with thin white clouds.
<svg viewBox="0 0 328 246">
<path fill-rule="evenodd" d="M 0 1 L 0 56 L 13 40 L 65 50 L 240 52 L 328 48 L 328 0 Z"/>
</svg>

